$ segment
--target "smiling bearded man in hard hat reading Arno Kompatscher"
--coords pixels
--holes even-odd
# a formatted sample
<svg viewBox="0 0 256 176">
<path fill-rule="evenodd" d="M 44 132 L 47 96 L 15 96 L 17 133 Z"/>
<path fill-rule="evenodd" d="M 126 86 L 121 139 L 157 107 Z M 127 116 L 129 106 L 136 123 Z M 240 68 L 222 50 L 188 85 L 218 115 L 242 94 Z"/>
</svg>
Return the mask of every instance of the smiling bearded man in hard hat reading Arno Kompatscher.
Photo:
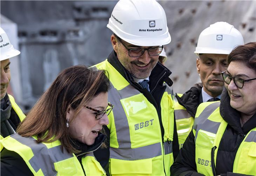
<svg viewBox="0 0 256 176">
<path fill-rule="evenodd" d="M 110 175 L 170 175 L 179 149 L 171 72 L 158 62 L 171 41 L 166 14 L 155 0 L 120 0 L 107 27 L 114 50 L 95 67 L 109 73 L 115 108 L 105 129 L 108 155 L 94 154 Z"/>
</svg>

